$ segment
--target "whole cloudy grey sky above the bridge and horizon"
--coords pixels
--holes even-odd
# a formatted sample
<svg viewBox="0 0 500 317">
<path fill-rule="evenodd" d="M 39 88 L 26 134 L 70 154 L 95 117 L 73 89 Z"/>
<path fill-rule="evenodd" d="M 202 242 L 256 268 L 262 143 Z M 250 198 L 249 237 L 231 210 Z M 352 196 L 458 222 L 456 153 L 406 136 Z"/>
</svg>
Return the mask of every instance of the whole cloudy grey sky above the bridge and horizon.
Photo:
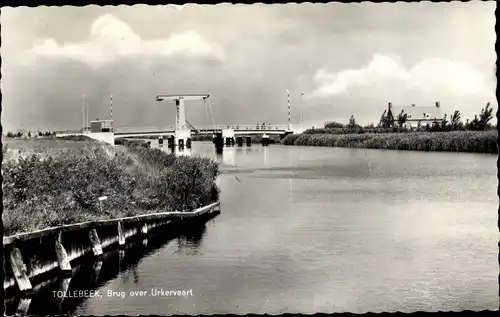
<svg viewBox="0 0 500 317">
<path fill-rule="evenodd" d="M 377 123 L 387 102 L 496 107 L 494 2 L 2 8 L 5 130 L 173 126 L 157 94 L 208 93 L 216 124 Z M 300 97 L 304 93 L 304 97 Z M 201 102 L 187 119 L 205 125 Z"/>
</svg>

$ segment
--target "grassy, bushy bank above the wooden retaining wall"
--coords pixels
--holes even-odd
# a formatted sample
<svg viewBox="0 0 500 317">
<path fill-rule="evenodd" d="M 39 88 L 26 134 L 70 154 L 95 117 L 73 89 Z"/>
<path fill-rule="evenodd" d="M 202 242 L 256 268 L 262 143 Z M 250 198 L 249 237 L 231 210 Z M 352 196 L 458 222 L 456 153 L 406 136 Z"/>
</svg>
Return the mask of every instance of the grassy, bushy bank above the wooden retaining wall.
<svg viewBox="0 0 500 317">
<path fill-rule="evenodd" d="M 7 142 L 2 166 L 5 235 L 142 213 L 192 210 L 218 200 L 217 163 L 140 142 Z M 27 143 L 23 143 L 27 142 Z M 97 200 L 108 196 L 101 211 Z"/>
</svg>

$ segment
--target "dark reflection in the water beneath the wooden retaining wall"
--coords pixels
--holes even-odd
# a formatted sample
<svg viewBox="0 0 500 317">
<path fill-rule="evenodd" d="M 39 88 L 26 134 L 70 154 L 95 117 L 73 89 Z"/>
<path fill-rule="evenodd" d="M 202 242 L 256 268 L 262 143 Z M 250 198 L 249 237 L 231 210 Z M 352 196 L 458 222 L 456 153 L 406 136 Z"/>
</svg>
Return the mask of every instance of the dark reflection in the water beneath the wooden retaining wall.
<svg viewBox="0 0 500 317">
<path fill-rule="evenodd" d="M 199 249 L 206 233 L 206 223 L 210 219 L 192 221 L 192 227 L 168 228 L 157 232 L 148 239 L 136 240 L 128 244 L 124 250 L 106 252 L 103 259 L 95 260 L 85 257 L 81 264 L 73 268 L 73 274 L 68 278 L 54 278 L 34 287 L 30 299 L 5 299 L 7 315 L 57 315 L 72 314 L 87 301 L 82 297 L 61 296 L 73 294 L 74 291 L 101 290 L 110 280 L 120 277 L 122 284 L 140 282 L 138 265 L 144 258 L 169 245 L 177 237 L 176 252 L 186 255 L 199 254 Z M 146 245 L 145 246 L 145 242 Z M 42 286 L 40 286 L 42 285 Z M 57 296 L 56 296 L 57 295 Z"/>
</svg>

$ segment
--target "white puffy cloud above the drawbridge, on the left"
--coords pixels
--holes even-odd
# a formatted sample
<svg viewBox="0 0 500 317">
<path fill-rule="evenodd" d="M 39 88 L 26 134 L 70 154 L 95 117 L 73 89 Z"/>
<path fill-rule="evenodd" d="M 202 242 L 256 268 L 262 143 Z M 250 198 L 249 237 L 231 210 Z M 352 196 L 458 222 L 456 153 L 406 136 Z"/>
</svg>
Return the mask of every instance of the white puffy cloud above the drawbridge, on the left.
<svg viewBox="0 0 500 317">
<path fill-rule="evenodd" d="M 179 55 L 224 59 L 224 52 L 218 44 L 207 42 L 195 31 L 173 34 L 167 39 L 143 40 L 127 23 L 105 14 L 92 23 L 88 41 L 60 44 L 54 39 L 45 39 L 35 44 L 24 60 L 34 63 L 43 57 L 66 58 L 95 66 L 127 56 Z"/>
</svg>

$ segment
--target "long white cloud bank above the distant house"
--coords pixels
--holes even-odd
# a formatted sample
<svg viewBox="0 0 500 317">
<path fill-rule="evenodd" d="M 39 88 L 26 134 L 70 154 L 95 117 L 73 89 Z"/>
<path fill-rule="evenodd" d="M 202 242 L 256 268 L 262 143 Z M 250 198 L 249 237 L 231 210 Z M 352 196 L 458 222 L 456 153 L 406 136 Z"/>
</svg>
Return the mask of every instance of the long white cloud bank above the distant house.
<svg viewBox="0 0 500 317">
<path fill-rule="evenodd" d="M 314 82 L 316 89 L 306 94 L 306 98 L 347 94 L 356 88 L 454 95 L 484 95 L 493 91 L 491 83 L 466 63 L 428 58 L 407 69 L 399 58 L 380 54 L 375 54 L 362 68 L 338 73 L 319 69 L 314 75 Z"/>
</svg>

